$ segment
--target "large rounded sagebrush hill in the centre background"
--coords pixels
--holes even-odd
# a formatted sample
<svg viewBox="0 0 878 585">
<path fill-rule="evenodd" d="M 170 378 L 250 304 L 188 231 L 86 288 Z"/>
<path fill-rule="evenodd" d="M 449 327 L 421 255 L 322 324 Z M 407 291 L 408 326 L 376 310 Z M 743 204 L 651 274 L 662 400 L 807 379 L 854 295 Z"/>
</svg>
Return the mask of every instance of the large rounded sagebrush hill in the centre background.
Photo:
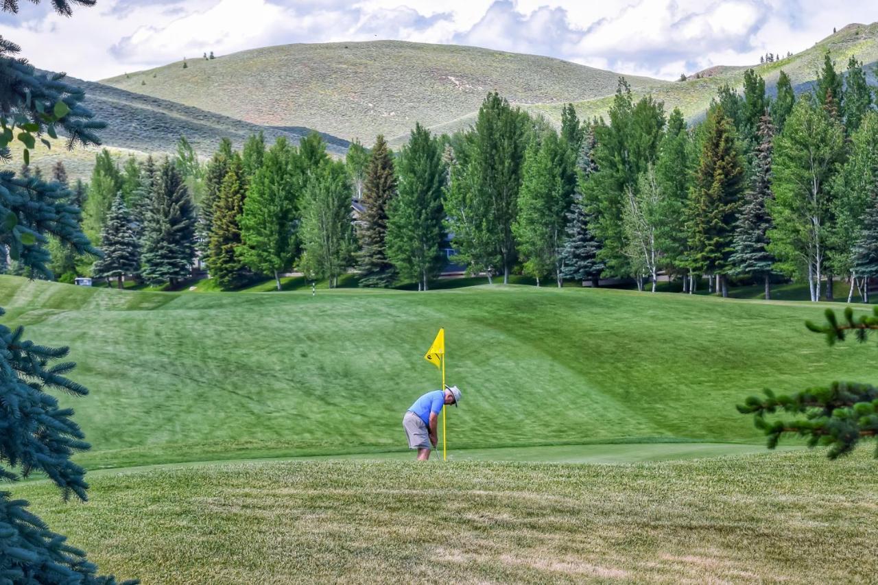
<svg viewBox="0 0 878 585">
<path fill-rule="evenodd" d="M 399 142 L 415 121 L 454 128 L 491 90 L 519 104 L 565 103 L 609 95 L 618 78 L 549 57 L 392 40 L 265 47 L 187 64 L 103 83 L 254 124 L 319 128 L 371 144 L 379 133 Z"/>
</svg>

